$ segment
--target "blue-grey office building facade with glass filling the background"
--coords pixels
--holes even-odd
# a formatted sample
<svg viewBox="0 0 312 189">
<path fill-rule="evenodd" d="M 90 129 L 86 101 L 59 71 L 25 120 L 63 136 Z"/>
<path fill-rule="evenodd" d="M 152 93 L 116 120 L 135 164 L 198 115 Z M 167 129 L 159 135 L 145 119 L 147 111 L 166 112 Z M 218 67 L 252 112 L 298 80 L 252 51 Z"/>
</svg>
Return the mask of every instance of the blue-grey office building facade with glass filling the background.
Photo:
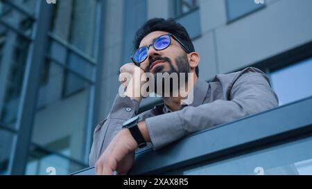
<svg viewBox="0 0 312 189">
<path fill-rule="evenodd" d="M 0 174 L 87 168 L 135 31 L 153 17 L 185 26 L 199 75 L 256 66 L 279 105 L 312 96 L 310 0 L 1 0 Z M 140 110 L 159 98 L 147 98 Z M 218 172 L 216 172 L 218 173 Z"/>
</svg>

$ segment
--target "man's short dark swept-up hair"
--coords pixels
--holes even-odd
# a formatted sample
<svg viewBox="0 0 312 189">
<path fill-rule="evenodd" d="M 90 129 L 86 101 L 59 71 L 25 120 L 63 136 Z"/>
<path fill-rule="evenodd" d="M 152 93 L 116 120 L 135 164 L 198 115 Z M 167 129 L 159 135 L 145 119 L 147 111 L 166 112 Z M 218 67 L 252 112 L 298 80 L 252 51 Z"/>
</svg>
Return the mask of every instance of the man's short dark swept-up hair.
<svg viewBox="0 0 312 189">
<path fill-rule="evenodd" d="M 137 33 L 135 33 L 135 50 L 139 48 L 139 45 L 141 43 L 141 40 L 148 35 L 149 33 L 152 33 L 154 31 L 165 31 L 168 33 L 172 33 L 177 37 L 177 39 L 180 40 L 190 52 L 195 52 L 194 45 L 191 41 L 191 38 L 189 37 L 189 33 L 187 33 L 187 30 L 179 23 L 177 23 L 174 19 L 162 19 L 162 18 L 154 18 L 146 21 L 146 23 L 137 30 Z M 196 66 L 195 69 L 196 75 L 198 76 L 198 66 Z"/>
</svg>

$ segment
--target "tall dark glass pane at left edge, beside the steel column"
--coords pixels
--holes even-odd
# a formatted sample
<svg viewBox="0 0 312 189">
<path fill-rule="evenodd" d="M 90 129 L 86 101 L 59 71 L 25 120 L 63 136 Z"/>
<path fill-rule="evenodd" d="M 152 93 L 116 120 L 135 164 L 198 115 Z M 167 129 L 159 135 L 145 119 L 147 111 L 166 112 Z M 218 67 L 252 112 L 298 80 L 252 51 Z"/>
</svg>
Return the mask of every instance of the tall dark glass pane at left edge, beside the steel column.
<svg viewBox="0 0 312 189">
<path fill-rule="evenodd" d="M 0 123 L 15 127 L 30 41 L 0 25 Z"/>
</svg>

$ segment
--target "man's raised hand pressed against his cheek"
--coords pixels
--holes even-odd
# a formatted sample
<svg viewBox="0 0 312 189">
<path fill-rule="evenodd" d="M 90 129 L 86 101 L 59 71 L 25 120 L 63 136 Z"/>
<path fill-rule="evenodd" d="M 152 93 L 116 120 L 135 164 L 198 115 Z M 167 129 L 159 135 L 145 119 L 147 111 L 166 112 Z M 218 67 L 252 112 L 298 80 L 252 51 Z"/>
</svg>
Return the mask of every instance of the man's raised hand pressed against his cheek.
<svg viewBox="0 0 312 189">
<path fill-rule="evenodd" d="M 119 82 L 126 87 L 125 96 L 141 102 L 141 86 L 144 84 L 146 75 L 143 69 L 134 63 L 124 64 L 120 68 Z M 143 78 L 143 80 L 141 79 Z"/>
</svg>

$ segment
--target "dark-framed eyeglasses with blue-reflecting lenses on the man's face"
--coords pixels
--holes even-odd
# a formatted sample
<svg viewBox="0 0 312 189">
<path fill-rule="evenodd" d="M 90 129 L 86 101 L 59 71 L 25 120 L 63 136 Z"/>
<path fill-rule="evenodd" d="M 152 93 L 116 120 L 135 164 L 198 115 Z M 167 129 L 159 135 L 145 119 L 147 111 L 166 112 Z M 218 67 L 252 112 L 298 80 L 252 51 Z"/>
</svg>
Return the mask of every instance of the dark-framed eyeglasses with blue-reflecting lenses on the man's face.
<svg viewBox="0 0 312 189">
<path fill-rule="evenodd" d="M 154 40 L 153 44 L 150 44 L 148 46 L 141 46 L 140 48 L 138 48 L 137 51 L 133 53 L 131 60 L 137 66 L 139 66 L 139 64 L 141 62 L 144 62 L 144 60 L 146 60 L 146 58 L 148 57 L 148 49 L 150 48 L 150 46 L 153 46 L 157 51 L 162 51 L 171 44 L 171 37 L 175 39 L 175 41 L 179 42 L 179 44 L 181 44 L 185 52 L 190 53 L 190 51 L 187 49 L 187 46 L 180 42 L 180 40 L 177 39 L 177 37 L 175 37 L 173 34 L 168 33 L 166 35 L 160 35 L 159 37 L 157 37 Z"/>
</svg>

